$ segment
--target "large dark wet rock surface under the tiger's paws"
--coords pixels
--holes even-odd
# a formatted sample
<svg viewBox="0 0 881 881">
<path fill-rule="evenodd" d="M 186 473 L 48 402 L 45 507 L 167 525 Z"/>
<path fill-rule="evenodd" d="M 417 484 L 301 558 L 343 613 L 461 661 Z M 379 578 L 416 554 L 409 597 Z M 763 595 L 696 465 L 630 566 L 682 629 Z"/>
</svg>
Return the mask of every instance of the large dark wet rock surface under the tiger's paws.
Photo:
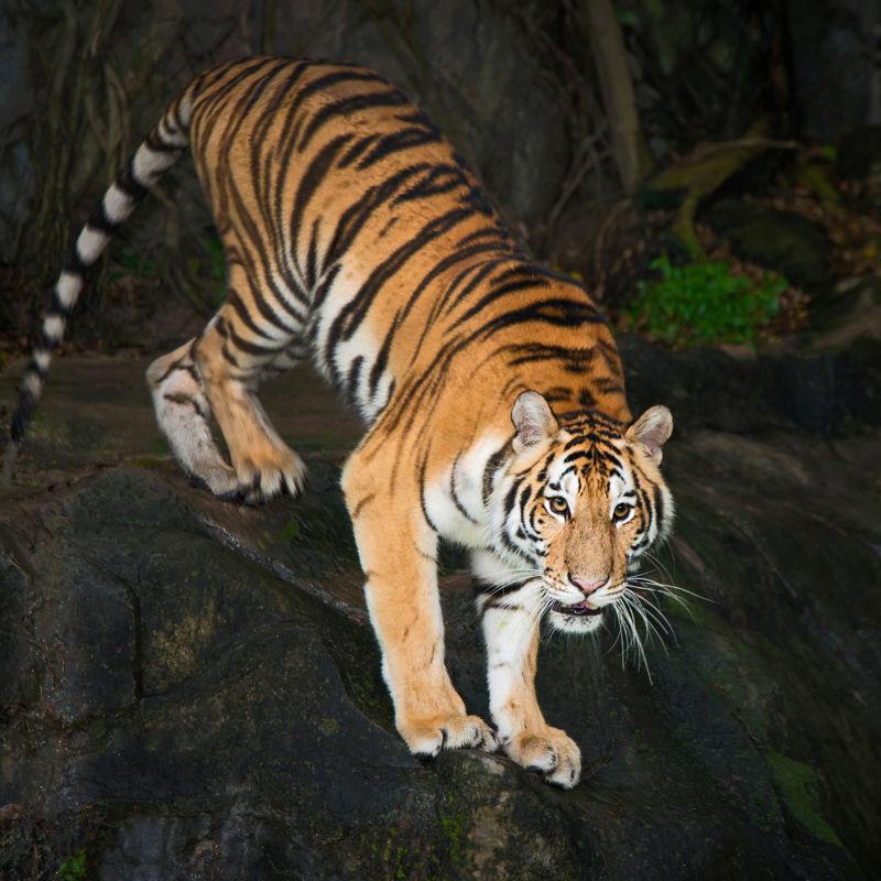
<svg viewBox="0 0 881 881">
<path fill-rule="evenodd" d="M 623 350 L 634 403 L 681 413 L 662 563 L 706 600 L 661 607 L 651 677 L 613 634 L 544 641 L 572 793 L 394 733 L 337 488 L 357 426 L 311 379 L 267 395 L 308 492 L 249 509 L 161 455 L 140 365 L 61 361 L 0 502 L 0 878 L 877 874 L 879 421 L 819 433 L 761 380 L 780 363 Z M 486 714 L 457 566 L 449 665 Z"/>
</svg>

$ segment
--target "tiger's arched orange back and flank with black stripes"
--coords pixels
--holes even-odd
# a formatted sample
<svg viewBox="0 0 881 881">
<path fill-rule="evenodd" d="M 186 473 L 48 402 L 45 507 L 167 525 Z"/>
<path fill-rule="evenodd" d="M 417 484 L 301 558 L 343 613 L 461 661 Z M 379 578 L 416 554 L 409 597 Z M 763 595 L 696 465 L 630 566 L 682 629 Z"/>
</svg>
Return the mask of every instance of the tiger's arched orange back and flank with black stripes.
<svg viewBox="0 0 881 881">
<path fill-rule="evenodd" d="M 509 360 L 534 377 L 556 352 L 552 370 L 585 379 L 596 350 L 585 326 L 596 325 L 607 348 L 586 379 L 602 374 L 600 403 L 622 393 L 583 289 L 526 258 L 449 142 L 377 74 L 270 58 L 227 66 L 196 91 L 191 142 L 229 254 L 233 357 L 247 348 L 271 369 L 279 349 L 287 363 L 308 347 L 370 422 L 407 379 L 432 410 L 415 378 L 443 371 L 449 384 L 461 361 L 470 382 L 475 351 L 526 323 L 531 345 Z M 554 385 L 554 400 L 597 404 L 596 381 Z"/>
</svg>

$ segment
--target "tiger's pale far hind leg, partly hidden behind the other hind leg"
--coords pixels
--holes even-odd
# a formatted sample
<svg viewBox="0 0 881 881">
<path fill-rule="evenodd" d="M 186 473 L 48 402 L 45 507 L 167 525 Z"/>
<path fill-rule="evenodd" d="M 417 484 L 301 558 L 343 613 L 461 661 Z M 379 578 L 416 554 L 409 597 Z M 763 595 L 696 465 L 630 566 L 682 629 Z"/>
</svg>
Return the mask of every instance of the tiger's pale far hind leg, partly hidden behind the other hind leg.
<svg viewBox="0 0 881 881">
<path fill-rule="evenodd" d="M 177 461 L 215 496 L 236 492 L 236 472 L 211 437 L 210 407 L 195 362 L 194 340 L 153 361 L 146 382 L 162 433 Z"/>
</svg>

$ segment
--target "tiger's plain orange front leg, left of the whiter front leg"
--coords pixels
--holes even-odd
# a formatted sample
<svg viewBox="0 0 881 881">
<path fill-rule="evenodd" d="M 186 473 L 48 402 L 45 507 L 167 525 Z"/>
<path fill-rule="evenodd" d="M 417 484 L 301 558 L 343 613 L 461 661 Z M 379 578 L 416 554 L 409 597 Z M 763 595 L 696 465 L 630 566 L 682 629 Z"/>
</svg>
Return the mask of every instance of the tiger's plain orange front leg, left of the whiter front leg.
<svg viewBox="0 0 881 881">
<path fill-rule="evenodd" d="M 444 662 L 437 535 L 422 515 L 418 491 L 405 492 L 400 486 L 390 491 L 391 463 L 378 458 L 366 464 L 369 454 L 368 445 L 352 455 L 342 488 L 395 727 L 416 755 L 459 747 L 492 751 L 492 730 L 466 714 Z"/>
</svg>

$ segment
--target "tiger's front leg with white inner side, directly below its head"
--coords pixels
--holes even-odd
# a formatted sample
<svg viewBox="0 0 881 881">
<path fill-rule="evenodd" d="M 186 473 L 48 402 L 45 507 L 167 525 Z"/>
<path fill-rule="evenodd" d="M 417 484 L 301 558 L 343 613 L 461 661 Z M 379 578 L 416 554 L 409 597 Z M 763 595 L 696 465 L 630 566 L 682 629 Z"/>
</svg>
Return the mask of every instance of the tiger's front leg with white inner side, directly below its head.
<svg viewBox="0 0 881 881">
<path fill-rule="evenodd" d="M 493 562 L 472 556 L 478 577 Z M 481 562 L 483 565 L 481 565 Z M 540 771 L 548 783 L 570 790 L 581 775 L 581 751 L 544 720 L 535 695 L 542 596 L 536 581 L 503 592 L 491 586 L 477 596 L 487 643 L 489 706 L 502 749 L 509 758 Z"/>
</svg>

